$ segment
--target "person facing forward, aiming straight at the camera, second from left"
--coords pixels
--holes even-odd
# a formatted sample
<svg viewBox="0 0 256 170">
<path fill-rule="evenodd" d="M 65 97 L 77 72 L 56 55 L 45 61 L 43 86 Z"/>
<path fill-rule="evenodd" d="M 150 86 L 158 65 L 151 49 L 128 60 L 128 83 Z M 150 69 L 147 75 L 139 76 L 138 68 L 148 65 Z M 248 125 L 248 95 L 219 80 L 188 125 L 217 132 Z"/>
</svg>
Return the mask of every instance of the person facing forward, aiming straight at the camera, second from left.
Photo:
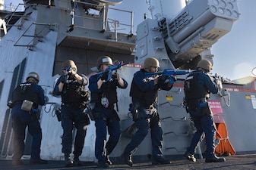
<svg viewBox="0 0 256 170">
<path fill-rule="evenodd" d="M 84 165 L 79 156 L 84 147 L 84 138 L 87 125 L 90 120 L 84 113 L 89 100 L 89 92 L 85 86 L 88 84 L 87 76 L 77 73 L 77 66 L 73 60 L 65 60 L 62 63 L 63 75 L 58 78 L 54 88 L 54 94 L 62 95 L 62 153 L 65 154 L 65 166 Z M 74 161 L 71 160 L 72 131 L 76 128 L 74 140 Z"/>
</svg>

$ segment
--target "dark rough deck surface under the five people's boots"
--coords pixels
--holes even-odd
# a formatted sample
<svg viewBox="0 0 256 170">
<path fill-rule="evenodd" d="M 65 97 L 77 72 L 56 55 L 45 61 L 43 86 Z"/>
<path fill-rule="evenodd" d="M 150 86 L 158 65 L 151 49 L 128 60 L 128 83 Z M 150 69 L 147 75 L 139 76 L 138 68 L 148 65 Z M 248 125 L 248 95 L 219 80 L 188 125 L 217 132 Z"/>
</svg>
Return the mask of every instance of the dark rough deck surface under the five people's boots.
<svg viewBox="0 0 256 170">
<path fill-rule="evenodd" d="M 197 162 L 190 162 L 187 159 L 172 159 L 172 164 L 170 165 L 151 165 L 150 162 L 134 162 L 133 167 L 128 165 L 111 165 L 109 168 L 100 169 L 179 169 L 179 170 L 189 170 L 189 169 L 256 169 L 256 155 L 242 155 L 242 156 L 226 156 L 226 162 L 220 163 L 205 163 L 205 159 L 198 159 Z M 74 166 L 66 168 L 64 166 L 64 161 L 52 161 L 50 160 L 47 165 L 30 165 L 28 160 L 24 160 L 24 165 L 12 165 L 11 160 L 0 160 L 0 169 L 11 170 L 11 169 L 99 169 L 96 167 L 95 162 L 87 162 L 85 166 Z"/>
</svg>

